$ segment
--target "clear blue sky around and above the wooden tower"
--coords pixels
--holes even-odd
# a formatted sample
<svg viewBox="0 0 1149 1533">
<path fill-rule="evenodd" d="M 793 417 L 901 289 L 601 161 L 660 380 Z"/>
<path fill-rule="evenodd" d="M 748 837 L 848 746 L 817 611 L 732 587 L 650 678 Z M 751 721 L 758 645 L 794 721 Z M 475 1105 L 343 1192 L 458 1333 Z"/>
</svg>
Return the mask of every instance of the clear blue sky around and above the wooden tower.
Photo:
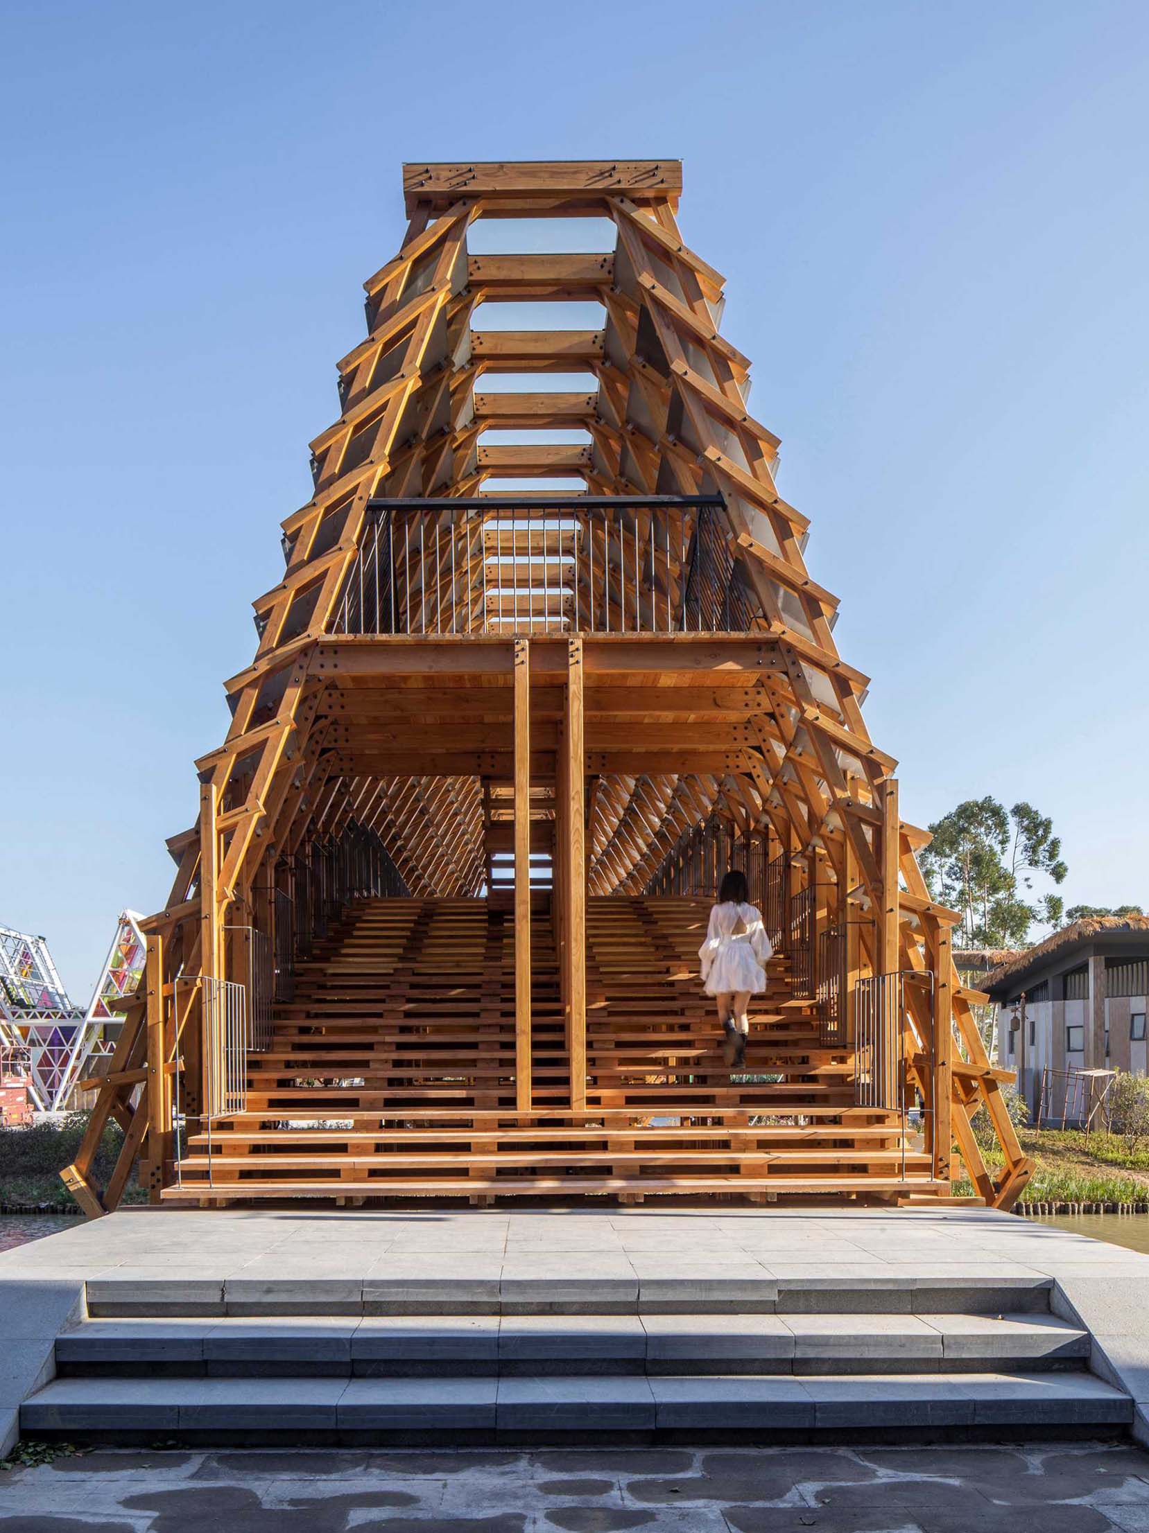
<svg viewBox="0 0 1149 1533">
<path fill-rule="evenodd" d="M 399 166 L 686 162 L 907 817 L 1149 904 L 1149 6 L 6 0 L 0 923 L 158 908 Z"/>
</svg>

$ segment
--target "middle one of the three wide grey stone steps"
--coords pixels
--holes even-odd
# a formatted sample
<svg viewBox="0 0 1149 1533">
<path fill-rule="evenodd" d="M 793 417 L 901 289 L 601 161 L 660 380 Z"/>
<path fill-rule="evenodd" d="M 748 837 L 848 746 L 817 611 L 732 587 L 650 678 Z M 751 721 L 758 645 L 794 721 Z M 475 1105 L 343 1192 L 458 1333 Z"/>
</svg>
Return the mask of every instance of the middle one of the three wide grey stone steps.
<svg viewBox="0 0 1149 1533">
<path fill-rule="evenodd" d="M 1032 1372 L 1088 1355 L 1085 1331 L 1026 1314 L 141 1317 L 55 1343 L 61 1377 Z"/>
</svg>

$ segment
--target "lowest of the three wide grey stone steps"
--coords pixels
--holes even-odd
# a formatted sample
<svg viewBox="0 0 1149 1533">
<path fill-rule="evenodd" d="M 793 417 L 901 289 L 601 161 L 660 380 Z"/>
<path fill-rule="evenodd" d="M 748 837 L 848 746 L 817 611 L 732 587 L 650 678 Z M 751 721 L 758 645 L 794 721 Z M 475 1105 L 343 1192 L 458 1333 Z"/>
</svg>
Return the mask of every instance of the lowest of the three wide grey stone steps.
<svg viewBox="0 0 1149 1533">
<path fill-rule="evenodd" d="M 555 1378 L 57 1378 L 20 1407 L 26 1436 L 244 1446 L 703 1438 L 916 1441 L 1124 1432 L 1132 1400 L 1091 1374 L 666 1374 Z"/>
</svg>

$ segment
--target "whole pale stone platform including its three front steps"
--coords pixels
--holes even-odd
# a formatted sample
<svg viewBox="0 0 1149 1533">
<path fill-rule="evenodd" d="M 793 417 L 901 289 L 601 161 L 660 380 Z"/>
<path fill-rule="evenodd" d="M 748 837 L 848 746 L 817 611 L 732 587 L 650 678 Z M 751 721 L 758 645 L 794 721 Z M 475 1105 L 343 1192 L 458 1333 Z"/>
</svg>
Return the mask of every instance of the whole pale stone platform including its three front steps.
<svg viewBox="0 0 1149 1533">
<path fill-rule="evenodd" d="M 1146 1441 L 1147 1283 L 983 1208 L 143 1208 L 0 1256 L 0 1436 Z"/>
</svg>

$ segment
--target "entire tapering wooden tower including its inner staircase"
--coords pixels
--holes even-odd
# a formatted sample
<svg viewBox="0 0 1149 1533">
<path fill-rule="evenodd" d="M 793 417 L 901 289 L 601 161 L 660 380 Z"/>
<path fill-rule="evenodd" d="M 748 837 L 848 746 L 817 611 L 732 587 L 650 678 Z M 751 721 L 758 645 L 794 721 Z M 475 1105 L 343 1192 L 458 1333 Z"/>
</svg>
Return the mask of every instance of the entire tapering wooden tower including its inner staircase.
<svg viewBox="0 0 1149 1533">
<path fill-rule="evenodd" d="M 681 166 L 420 164 L 403 190 L 66 1182 L 94 1214 L 135 1156 L 153 1199 L 209 1206 L 960 1176 L 1009 1206 L 1009 1076 L 680 233 Z M 508 218 L 611 239 L 471 253 Z M 512 308 L 538 304 L 598 319 Z M 730 865 L 778 954 L 736 1075 L 696 958 Z"/>
</svg>

